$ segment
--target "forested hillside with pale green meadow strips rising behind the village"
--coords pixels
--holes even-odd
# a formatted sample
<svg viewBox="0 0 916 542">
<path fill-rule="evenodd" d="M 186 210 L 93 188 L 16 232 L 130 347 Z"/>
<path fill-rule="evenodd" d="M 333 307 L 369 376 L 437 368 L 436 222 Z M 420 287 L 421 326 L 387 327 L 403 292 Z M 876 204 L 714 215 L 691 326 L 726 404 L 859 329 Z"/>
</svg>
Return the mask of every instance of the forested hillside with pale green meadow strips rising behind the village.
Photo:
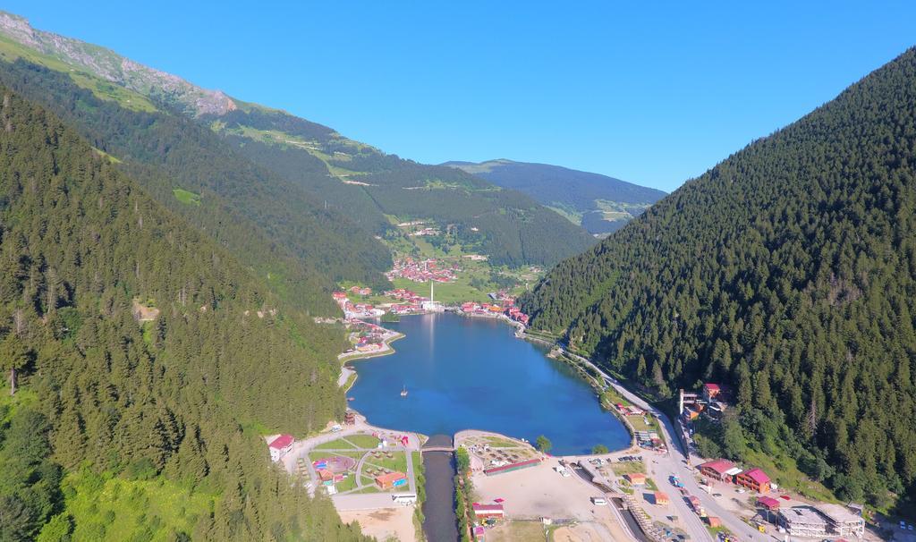
<svg viewBox="0 0 916 542">
<path fill-rule="evenodd" d="M 321 194 L 368 233 L 397 235 L 392 222 L 428 221 L 465 251 L 507 266 L 552 265 L 594 243 L 519 191 L 387 155 L 284 112 L 239 108 L 201 120 L 256 163 Z"/>
</svg>

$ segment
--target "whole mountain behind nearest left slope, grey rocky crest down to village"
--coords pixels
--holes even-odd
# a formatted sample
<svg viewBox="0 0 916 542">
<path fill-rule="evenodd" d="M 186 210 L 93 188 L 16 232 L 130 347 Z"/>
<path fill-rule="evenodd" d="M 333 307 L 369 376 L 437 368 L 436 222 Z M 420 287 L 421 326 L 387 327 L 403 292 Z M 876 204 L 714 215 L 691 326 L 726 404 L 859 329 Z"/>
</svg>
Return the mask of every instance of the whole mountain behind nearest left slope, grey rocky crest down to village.
<svg viewBox="0 0 916 542">
<path fill-rule="evenodd" d="M 386 155 L 327 126 L 201 89 L 3 12 L 0 58 L 14 71 L 6 69 L 5 84 L 122 160 L 160 201 L 174 200 L 173 188 L 202 196 L 197 209 L 169 205 L 245 263 L 285 278 L 286 288 L 302 282 L 290 277 L 296 266 L 257 263 L 288 251 L 295 264 L 334 280 L 380 284 L 378 271 L 390 258 L 373 236 L 402 236 L 393 222 L 433 222 L 496 265 L 552 265 L 594 243 L 520 192 Z M 33 64 L 48 70 L 29 72 Z M 262 257 L 268 249 L 277 254 Z"/>
</svg>

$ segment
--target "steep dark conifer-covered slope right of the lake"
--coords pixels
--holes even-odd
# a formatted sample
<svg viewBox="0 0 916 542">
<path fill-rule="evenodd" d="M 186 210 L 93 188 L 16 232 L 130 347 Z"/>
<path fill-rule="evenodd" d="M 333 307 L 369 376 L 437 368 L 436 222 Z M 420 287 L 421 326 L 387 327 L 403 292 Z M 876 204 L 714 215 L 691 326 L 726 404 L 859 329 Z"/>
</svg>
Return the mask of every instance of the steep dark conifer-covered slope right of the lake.
<svg viewBox="0 0 916 542">
<path fill-rule="evenodd" d="M 914 165 L 911 49 L 563 262 L 523 307 L 662 396 L 734 385 L 763 450 L 797 441 L 841 497 L 888 504 L 916 481 Z"/>
</svg>

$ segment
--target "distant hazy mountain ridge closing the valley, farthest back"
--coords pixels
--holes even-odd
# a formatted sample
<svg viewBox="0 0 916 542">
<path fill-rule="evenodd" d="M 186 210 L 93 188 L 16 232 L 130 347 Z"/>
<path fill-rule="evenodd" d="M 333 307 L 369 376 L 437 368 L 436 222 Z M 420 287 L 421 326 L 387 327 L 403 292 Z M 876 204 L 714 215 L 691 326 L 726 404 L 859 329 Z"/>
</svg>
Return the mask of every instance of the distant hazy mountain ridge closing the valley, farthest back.
<svg viewBox="0 0 916 542">
<path fill-rule="evenodd" d="M 445 162 L 506 189 L 525 192 L 596 235 L 612 233 L 664 198 L 661 190 L 577 169 L 516 162 Z"/>
</svg>

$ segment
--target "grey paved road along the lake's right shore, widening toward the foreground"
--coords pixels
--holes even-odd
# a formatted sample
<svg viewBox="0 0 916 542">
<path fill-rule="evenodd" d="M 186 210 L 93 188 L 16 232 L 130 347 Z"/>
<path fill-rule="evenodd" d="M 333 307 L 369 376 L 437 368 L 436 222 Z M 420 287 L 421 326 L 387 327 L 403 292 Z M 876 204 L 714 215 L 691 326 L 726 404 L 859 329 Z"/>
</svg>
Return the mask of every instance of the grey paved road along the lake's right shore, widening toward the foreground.
<svg viewBox="0 0 916 542">
<path fill-rule="evenodd" d="M 669 451 L 664 455 L 654 454 L 651 452 L 647 452 L 645 455 L 647 457 L 647 461 L 649 462 L 652 459 L 658 460 L 658 463 L 654 464 L 653 467 L 655 467 L 655 470 L 659 471 L 660 474 L 664 474 L 664 482 L 668 481 L 668 477 L 671 474 L 674 474 L 680 478 L 684 483 L 684 486 L 687 488 L 687 491 L 699 497 L 700 502 L 703 504 L 703 508 L 706 509 L 706 514 L 717 515 L 722 520 L 722 524 L 727 527 L 728 530 L 734 533 L 739 539 L 754 540 L 757 542 L 772 542 L 773 540 L 779 540 L 779 538 L 766 535 L 754 527 L 748 526 L 739 517 L 726 510 L 721 504 L 717 503 L 712 495 L 700 489 L 700 484 L 698 484 L 694 478 L 695 472 L 693 472 L 693 470 L 684 462 L 684 460 L 686 460 L 689 455 L 682 446 L 682 442 L 679 437 L 681 433 L 674 428 L 674 425 L 671 423 L 671 420 L 668 418 L 668 416 L 666 416 L 658 408 L 649 405 L 649 403 L 644 401 L 641 397 L 627 390 L 627 388 L 621 385 L 613 376 L 606 374 L 597 365 L 588 359 L 583 358 L 580 355 L 576 355 L 573 352 L 567 352 L 562 347 L 560 350 L 575 358 L 576 361 L 592 367 L 595 371 L 604 377 L 605 383 L 607 385 L 614 386 L 620 395 L 627 397 L 627 400 L 637 407 L 640 407 L 647 412 L 650 412 L 653 416 L 659 418 L 661 421 L 661 428 L 662 433 L 664 433 L 665 441 L 669 444 Z M 703 525 L 702 520 L 699 518 L 699 516 L 693 513 L 690 504 L 686 503 L 682 498 L 680 498 L 680 496 L 680 493 L 672 494 L 671 503 L 674 504 L 677 508 L 678 514 L 682 515 L 684 518 L 684 522 L 688 526 L 688 532 L 690 533 L 692 539 L 712 540 L 712 537 L 710 536 L 709 531 Z"/>
</svg>

